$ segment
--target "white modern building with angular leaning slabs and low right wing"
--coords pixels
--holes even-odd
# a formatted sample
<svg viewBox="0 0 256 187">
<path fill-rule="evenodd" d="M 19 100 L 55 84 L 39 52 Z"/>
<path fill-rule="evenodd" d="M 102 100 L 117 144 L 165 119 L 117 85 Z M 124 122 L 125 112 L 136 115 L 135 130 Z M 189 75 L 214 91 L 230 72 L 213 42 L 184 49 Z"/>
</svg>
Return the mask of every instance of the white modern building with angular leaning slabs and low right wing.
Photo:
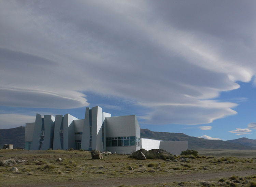
<svg viewBox="0 0 256 187">
<path fill-rule="evenodd" d="M 141 148 L 165 148 L 172 154 L 180 154 L 182 150 L 187 150 L 187 141 L 168 143 L 146 138 L 142 140 L 135 115 L 111 117 L 111 114 L 102 112 L 99 106 L 87 107 L 84 119 L 70 114 L 55 117 L 37 114 L 34 123 L 26 123 L 25 149 L 70 148 L 120 154 L 131 154 Z"/>
</svg>

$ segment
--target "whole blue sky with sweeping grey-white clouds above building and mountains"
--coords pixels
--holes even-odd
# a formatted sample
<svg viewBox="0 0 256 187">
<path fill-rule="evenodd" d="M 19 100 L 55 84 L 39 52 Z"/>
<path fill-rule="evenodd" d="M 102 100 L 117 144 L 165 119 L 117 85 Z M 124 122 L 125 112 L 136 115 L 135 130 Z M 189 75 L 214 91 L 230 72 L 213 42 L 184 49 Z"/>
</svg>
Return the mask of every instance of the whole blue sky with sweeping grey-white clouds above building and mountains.
<svg viewBox="0 0 256 187">
<path fill-rule="evenodd" d="M 256 1 L 0 0 L 0 129 L 86 107 L 256 139 Z"/>
</svg>

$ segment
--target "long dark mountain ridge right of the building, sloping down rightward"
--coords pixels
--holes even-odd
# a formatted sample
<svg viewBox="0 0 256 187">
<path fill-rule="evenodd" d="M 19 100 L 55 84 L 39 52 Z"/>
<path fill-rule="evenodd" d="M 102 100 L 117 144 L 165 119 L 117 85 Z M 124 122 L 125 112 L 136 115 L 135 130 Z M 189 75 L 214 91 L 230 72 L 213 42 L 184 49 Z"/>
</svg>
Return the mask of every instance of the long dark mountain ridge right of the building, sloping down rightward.
<svg viewBox="0 0 256 187">
<path fill-rule="evenodd" d="M 241 143 L 238 144 L 229 141 L 207 140 L 203 138 L 191 137 L 183 133 L 154 132 L 148 129 L 141 129 L 140 132 L 142 138 L 166 141 L 188 141 L 188 149 L 256 149 L 256 147 L 248 146 L 249 144 L 242 145 Z"/>
</svg>

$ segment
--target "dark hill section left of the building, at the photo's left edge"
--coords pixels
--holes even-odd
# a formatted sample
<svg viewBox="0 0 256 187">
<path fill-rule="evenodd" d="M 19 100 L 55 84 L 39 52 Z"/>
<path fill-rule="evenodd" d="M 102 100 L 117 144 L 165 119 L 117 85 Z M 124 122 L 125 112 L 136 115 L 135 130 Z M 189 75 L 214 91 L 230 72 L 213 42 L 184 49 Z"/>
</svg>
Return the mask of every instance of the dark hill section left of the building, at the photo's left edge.
<svg viewBox="0 0 256 187">
<path fill-rule="evenodd" d="M 25 148 L 25 126 L 0 129 L 0 149 L 4 144 L 13 144 L 13 148 Z"/>
</svg>

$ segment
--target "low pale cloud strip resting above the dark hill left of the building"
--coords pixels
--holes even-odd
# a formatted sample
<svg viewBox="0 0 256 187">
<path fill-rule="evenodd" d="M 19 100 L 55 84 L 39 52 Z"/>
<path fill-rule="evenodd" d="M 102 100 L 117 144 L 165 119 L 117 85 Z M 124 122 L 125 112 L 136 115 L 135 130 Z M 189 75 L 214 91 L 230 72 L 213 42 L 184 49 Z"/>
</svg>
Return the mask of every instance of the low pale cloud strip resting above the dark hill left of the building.
<svg viewBox="0 0 256 187">
<path fill-rule="evenodd" d="M 28 122 L 34 122 L 35 116 L 22 114 L 0 114 L 0 129 L 10 129 L 25 126 Z"/>
</svg>

